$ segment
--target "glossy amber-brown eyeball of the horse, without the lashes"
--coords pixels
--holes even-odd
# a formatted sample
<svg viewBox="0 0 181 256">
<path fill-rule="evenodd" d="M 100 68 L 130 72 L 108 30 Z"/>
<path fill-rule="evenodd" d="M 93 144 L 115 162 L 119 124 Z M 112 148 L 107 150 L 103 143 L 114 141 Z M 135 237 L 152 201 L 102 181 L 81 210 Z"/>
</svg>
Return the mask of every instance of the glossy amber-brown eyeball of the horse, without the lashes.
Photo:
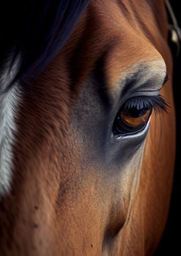
<svg viewBox="0 0 181 256">
<path fill-rule="evenodd" d="M 137 109 L 136 106 L 131 108 L 121 108 L 115 119 L 113 131 L 118 134 L 135 133 L 145 128 L 149 117 L 152 114 L 152 108 Z"/>
</svg>

